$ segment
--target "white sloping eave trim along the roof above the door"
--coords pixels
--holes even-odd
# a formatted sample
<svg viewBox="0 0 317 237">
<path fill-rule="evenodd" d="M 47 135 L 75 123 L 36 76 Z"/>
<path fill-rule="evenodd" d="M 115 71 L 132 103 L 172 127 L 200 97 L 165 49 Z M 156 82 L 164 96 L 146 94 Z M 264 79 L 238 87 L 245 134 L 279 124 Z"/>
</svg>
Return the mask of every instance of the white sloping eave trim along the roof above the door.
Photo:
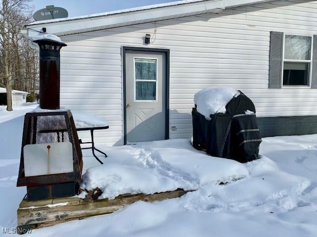
<svg viewBox="0 0 317 237">
<path fill-rule="evenodd" d="M 87 16 L 33 22 L 26 26 L 27 30 L 22 31 L 22 34 L 29 38 L 36 37 L 39 34 L 36 31 L 41 31 L 43 27 L 46 27 L 50 34 L 65 36 L 198 14 L 217 14 L 226 8 L 267 1 L 272 0 L 183 0 L 168 2 Z"/>
</svg>

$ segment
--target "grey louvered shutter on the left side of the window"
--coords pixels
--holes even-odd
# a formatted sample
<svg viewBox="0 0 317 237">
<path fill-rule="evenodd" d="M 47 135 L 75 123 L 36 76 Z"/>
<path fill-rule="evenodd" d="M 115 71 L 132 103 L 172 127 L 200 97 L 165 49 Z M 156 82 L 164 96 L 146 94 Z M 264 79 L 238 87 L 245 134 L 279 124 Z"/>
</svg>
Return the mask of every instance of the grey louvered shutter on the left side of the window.
<svg viewBox="0 0 317 237">
<path fill-rule="evenodd" d="M 269 44 L 268 88 L 282 86 L 283 32 L 271 31 Z"/>
</svg>

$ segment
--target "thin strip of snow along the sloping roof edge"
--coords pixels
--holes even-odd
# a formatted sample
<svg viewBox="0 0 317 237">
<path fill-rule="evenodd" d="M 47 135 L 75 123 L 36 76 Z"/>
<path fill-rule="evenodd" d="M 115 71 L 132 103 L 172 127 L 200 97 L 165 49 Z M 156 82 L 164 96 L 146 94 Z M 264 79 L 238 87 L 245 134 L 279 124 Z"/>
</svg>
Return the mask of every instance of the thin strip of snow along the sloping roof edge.
<svg viewBox="0 0 317 237">
<path fill-rule="evenodd" d="M 107 12 L 89 14 L 89 15 L 83 15 L 83 16 L 74 16 L 74 17 L 65 17 L 65 18 L 58 18 L 58 19 L 51 19 L 51 20 L 35 21 L 35 22 L 32 22 L 28 25 L 30 26 L 30 25 L 45 24 L 45 23 L 52 23 L 52 22 L 59 22 L 59 21 L 69 21 L 69 20 L 85 19 L 85 18 L 91 18 L 91 17 L 108 16 L 108 15 L 114 15 L 114 14 L 119 14 L 119 13 L 133 12 L 133 11 L 139 11 L 139 10 L 147 10 L 147 9 L 153 9 L 153 8 L 165 7 L 165 6 L 174 6 L 174 5 L 180 5 L 180 4 L 191 3 L 191 2 L 199 2 L 199 1 L 207 1 L 207 0 L 172 1 L 172 2 L 165 2 L 165 3 L 152 4 L 152 5 L 146 5 L 146 6 L 125 8 L 125 9 L 120 9 L 120 10 L 107 11 Z"/>
</svg>

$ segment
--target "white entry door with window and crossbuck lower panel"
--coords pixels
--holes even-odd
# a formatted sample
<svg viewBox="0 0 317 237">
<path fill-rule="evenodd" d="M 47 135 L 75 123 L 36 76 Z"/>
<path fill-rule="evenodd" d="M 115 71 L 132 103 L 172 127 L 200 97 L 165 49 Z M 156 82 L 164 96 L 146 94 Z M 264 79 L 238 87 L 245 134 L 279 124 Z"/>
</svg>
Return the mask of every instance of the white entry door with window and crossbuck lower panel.
<svg viewBox="0 0 317 237">
<path fill-rule="evenodd" d="M 126 139 L 165 139 L 166 62 L 162 52 L 126 51 Z"/>
</svg>

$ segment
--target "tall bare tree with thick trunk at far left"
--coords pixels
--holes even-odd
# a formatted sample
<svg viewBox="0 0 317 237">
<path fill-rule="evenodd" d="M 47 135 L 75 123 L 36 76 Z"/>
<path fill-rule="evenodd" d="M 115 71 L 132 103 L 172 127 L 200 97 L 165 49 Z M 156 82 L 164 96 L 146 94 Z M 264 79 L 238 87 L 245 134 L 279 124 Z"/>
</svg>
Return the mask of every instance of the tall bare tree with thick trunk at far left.
<svg viewBox="0 0 317 237">
<path fill-rule="evenodd" d="M 19 58 L 19 30 L 29 21 L 30 0 L 2 0 L 0 8 L 1 80 L 5 85 L 7 111 L 12 111 L 13 76 L 21 72 Z M 19 77 L 19 76 L 18 76 Z"/>
</svg>

